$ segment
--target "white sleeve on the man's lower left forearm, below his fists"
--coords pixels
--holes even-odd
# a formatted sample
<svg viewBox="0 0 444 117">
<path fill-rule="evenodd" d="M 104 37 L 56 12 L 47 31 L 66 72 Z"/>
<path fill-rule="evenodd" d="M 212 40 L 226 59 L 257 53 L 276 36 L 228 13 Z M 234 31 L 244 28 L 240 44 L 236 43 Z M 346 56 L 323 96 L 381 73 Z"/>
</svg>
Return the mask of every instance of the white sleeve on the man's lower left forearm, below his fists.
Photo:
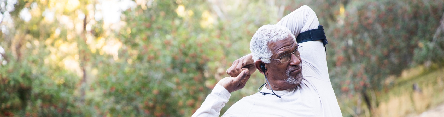
<svg viewBox="0 0 444 117">
<path fill-rule="evenodd" d="M 216 84 L 213 91 L 208 94 L 200 108 L 191 117 L 219 117 L 222 107 L 228 102 L 230 96 L 230 92 Z"/>
</svg>

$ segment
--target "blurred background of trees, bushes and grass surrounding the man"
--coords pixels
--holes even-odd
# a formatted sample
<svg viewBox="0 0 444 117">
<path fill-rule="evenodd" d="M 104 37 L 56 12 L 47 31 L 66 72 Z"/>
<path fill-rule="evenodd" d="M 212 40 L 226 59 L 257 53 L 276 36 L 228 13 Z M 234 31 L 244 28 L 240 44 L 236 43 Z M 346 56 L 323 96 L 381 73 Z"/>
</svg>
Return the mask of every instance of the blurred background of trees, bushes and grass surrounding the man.
<svg viewBox="0 0 444 117">
<path fill-rule="evenodd" d="M 344 117 L 444 114 L 444 0 L 0 0 L 0 117 L 191 116 L 256 30 L 302 5 Z"/>
</svg>

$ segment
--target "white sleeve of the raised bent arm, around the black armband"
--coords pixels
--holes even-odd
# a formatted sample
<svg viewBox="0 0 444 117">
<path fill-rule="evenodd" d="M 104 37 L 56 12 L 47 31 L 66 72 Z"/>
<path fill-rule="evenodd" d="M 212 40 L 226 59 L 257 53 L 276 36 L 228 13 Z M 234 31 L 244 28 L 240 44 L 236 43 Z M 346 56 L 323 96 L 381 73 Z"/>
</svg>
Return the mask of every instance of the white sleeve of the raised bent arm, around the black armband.
<svg viewBox="0 0 444 117">
<path fill-rule="evenodd" d="M 319 20 L 314 11 L 308 6 L 302 6 L 283 17 L 277 25 L 287 27 L 295 37 L 301 32 L 317 29 Z M 327 69 L 325 46 L 321 40 L 299 43 L 303 48 L 301 53 L 302 71 L 323 81 L 330 81 Z M 305 72 L 305 73 L 304 73 Z"/>
</svg>

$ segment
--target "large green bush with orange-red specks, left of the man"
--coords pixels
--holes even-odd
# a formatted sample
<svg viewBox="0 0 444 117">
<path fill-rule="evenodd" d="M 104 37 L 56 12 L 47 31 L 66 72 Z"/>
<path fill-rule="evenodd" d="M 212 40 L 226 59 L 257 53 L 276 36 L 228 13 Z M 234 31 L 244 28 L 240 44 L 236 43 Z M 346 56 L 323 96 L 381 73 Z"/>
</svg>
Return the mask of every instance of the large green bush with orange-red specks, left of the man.
<svg viewBox="0 0 444 117">
<path fill-rule="evenodd" d="M 99 73 L 111 74 L 98 80 L 101 87 L 110 89 L 103 95 L 111 100 L 107 103 L 121 107 L 103 110 L 111 110 L 115 115 L 191 115 L 216 80 L 225 75 L 230 65 L 226 57 L 248 53 L 242 44 L 248 44 L 251 32 L 258 26 L 240 30 L 249 31 L 250 35 L 230 33 L 227 29 L 231 28 L 225 23 L 205 23 L 209 11 L 202 9 L 209 8 L 195 2 L 155 1 L 146 10 L 124 12 L 127 26 L 122 29 L 126 30 L 117 34 L 123 42 L 119 52 L 122 61 L 105 62 Z M 180 6 L 185 14 L 177 10 Z M 116 65 L 119 67 L 114 68 Z M 131 113 L 121 111 L 125 108 Z"/>
</svg>

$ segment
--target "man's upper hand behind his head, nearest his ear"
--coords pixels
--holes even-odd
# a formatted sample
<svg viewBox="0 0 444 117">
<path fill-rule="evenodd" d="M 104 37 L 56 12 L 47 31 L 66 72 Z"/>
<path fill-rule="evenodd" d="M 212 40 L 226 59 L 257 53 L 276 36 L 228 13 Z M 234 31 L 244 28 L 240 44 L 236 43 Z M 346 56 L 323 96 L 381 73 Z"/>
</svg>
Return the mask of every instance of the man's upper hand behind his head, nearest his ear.
<svg viewBox="0 0 444 117">
<path fill-rule="evenodd" d="M 231 77 L 238 77 L 243 70 L 248 69 L 250 71 L 250 75 L 253 74 L 257 69 L 254 67 L 254 61 L 252 58 L 253 56 L 251 56 L 250 53 L 239 58 L 238 60 L 234 60 L 233 65 L 226 70 L 226 73 Z"/>
</svg>

